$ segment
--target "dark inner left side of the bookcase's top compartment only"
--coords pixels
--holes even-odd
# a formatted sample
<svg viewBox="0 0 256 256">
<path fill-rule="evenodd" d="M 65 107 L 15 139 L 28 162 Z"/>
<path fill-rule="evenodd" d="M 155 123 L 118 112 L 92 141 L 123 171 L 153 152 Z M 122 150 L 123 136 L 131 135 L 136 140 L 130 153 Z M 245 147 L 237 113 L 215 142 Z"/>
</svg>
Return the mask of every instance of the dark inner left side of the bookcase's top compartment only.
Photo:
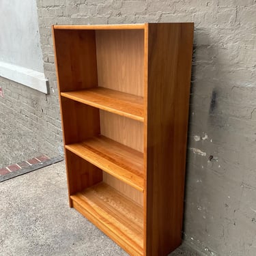
<svg viewBox="0 0 256 256">
<path fill-rule="evenodd" d="M 60 91 L 98 85 L 94 30 L 56 30 L 55 49 Z"/>
</svg>

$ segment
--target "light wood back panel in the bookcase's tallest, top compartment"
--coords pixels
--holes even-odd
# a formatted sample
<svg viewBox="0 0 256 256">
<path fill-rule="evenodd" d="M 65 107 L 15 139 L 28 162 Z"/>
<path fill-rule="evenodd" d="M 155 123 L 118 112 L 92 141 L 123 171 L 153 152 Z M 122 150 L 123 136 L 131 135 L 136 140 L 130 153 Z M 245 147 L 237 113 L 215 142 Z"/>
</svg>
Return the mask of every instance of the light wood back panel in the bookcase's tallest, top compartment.
<svg viewBox="0 0 256 256">
<path fill-rule="evenodd" d="M 98 85 L 143 96 L 144 31 L 96 31 Z"/>
</svg>

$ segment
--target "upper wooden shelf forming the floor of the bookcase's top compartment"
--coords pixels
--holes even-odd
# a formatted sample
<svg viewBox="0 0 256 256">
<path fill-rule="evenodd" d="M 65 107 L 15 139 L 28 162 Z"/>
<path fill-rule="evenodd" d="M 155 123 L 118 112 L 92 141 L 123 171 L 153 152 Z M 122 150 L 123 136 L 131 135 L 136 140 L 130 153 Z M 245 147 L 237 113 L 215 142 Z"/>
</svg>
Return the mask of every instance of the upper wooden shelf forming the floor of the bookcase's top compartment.
<svg viewBox="0 0 256 256">
<path fill-rule="evenodd" d="M 143 97 L 140 96 L 104 87 L 61 92 L 61 96 L 140 122 L 144 121 Z"/>
</svg>

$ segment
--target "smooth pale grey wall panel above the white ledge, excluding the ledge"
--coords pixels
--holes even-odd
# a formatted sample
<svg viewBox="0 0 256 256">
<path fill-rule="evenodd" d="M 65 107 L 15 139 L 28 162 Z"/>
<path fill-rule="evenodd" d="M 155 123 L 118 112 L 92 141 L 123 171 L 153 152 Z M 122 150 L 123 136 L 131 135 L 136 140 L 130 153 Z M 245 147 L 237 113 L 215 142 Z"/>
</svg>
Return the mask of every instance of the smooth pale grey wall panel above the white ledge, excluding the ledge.
<svg viewBox="0 0 256 256">
<path fill-rule="evenodd" d="M 0 2 L 0 61 L 43 72 L 35 0 Z"/>
</svg>

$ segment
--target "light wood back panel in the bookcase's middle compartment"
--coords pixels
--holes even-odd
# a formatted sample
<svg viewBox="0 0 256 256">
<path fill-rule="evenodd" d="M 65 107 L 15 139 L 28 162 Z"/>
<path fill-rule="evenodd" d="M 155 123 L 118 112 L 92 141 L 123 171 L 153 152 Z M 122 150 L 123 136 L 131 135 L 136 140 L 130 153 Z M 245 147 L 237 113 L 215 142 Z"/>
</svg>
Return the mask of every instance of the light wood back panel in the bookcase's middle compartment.
<svg viewBox="0 0 256 256">
<path fill-rule="evenodd" d="M 143 152 L 143 123 L 100 110 L 100 133 Z"/>
</svg>

